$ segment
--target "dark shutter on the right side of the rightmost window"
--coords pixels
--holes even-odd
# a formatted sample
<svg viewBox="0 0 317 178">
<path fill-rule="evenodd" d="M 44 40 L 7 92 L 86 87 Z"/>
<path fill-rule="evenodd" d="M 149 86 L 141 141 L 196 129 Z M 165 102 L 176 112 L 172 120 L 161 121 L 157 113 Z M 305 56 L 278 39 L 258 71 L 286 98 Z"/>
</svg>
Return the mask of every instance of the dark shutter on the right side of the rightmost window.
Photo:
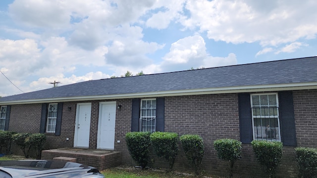
<svg viewBox="0 0 317 178">
<path fill-rule="evenodd" d="M 281 139 L 285 146 L 297 146 L 292 91 L 278 92 Z"/>
</svg>

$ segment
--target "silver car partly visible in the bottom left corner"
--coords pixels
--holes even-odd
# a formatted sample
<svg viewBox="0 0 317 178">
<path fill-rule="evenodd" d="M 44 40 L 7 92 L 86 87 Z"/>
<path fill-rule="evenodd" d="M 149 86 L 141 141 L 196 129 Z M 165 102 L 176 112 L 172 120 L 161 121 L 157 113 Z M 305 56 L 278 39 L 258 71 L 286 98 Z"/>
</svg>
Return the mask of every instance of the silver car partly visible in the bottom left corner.
<svg viewBox="0 0 317 178">
<path fill-rule="evenodd" d="M 62 161 L 0 161 L 0 170 L 12 178 L 104 178 L 96 168 Z"/>
</svg>

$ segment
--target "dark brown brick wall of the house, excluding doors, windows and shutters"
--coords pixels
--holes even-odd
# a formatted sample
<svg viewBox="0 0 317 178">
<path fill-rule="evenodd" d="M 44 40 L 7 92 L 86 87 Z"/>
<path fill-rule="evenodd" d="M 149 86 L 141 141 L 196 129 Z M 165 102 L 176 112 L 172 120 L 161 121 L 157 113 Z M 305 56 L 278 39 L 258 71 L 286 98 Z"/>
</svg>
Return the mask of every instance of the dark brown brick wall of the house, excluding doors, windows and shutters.
<svg viewBox="0 0 317 178">
<path fill-rule="evenodd" d="M 298 146 L 317 147 L 317 89 L 293 91 L 295 123 Z M 113 100 L 87 101 L 92 103 L 90 148 L 97 147 L 99 102 Z M 135 165 L 131 159 L 124 136 L 131 131 L 132 99 L 118 99 L 116 110 L 115 151 L 120 151 L 123 164 Z M 61 135 L 47 134 L 45 148 L 73 147 L 76 119 L 76 103 L 65 102 Z M 67 107 L 71 107 L 71 111 Z M 9 130 L 16 132 L 36 133 L 40 130 L 41 104 L 12 105 Z M 211 174 L 226 175 L 227 163 L 216 157 L 213 141 L 219 138 L 240 138 L 238 97 L 236 93 L 210 94 L 192 96 L 165 97 L 165 132 L 182 134 L 199 134 L 205 142 L 203 169 Z M 69 140 L 66 140 L 66 137 Z M 120 142 L 118 142 L 120 141 Z M 155 158 L 155 157 L 154 157 Z M 154 167 L 165 167 L 164 160 L 155 158 L 150 164 Z M 174 165 L 178 170 L 190 170 L 184 153 L 181 151 Z M 284 147 L 282 165 L 278 168 L 280 177 L 297 177 L 297 164 L 294 147 Z M 243 144 L 242 159 L 235 163 L 234 175 L 241 177 L 263 177 L 261 167 L 254 159 L 250 144 Z M 237 176 L 237 175 L 236 175 Z"/>
</svg>

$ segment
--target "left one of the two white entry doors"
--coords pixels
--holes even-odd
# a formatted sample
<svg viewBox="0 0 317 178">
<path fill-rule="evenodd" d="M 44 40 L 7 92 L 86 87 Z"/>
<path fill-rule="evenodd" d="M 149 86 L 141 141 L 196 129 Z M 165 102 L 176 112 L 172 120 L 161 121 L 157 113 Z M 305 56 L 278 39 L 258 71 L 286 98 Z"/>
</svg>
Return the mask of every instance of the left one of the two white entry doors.
<svg viewBox="0 0 317 178">
<path fill-rule="evenodd" d="M 91 103 L 78 103 L 74 147 L 89 147 Z"/>
</svg>

